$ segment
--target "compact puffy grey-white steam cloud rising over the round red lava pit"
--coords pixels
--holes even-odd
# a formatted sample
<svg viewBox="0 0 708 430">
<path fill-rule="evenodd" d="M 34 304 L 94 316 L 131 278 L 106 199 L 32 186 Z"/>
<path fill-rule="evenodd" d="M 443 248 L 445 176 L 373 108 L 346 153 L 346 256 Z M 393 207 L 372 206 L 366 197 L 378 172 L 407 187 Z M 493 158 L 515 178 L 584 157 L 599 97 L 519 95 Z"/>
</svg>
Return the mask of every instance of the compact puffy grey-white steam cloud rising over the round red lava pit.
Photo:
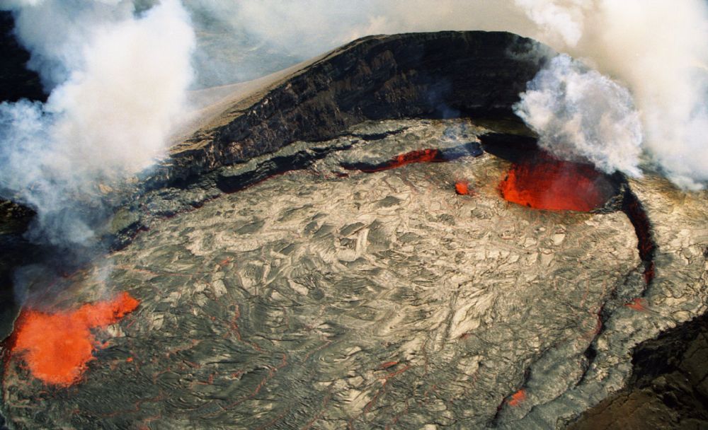
<svg viewBox="0 0 708 430">
<path fill-rule="evenodd" d="M 539 146 L 604 170 L 640 175 L 641 122 L 626 88 L 561 54 L 528 84 L 517 115 L 539 135 Z"/>
</svg>

